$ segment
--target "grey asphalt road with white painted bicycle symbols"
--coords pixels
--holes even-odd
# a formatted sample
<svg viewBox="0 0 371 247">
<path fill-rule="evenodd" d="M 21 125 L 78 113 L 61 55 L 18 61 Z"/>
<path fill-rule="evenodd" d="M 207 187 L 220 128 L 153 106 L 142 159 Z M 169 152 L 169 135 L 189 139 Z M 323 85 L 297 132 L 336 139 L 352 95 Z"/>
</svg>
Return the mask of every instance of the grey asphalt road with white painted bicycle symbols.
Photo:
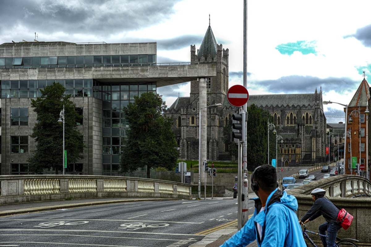
<svg viewBox="0 0 371 247">
<path fill-rule="evenodd" d="M 236 203 L 144 201 L 6 216 L 0 218 L 0 246 L 189 246 L 236 222 Z"/>
</svg>

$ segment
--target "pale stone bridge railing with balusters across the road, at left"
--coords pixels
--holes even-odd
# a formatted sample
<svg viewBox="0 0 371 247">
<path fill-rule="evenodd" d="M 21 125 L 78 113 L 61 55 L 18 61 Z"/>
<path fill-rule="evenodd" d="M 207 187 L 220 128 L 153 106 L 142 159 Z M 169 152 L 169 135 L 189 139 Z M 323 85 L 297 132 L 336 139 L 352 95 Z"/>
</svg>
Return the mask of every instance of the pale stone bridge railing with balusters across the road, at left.
<svg viewBox="0 0 371 247">
<path fill-rule="evenodd" d="M 92 197 L 192 199 L 191 185 L 133 177 L 81 175 L 0 176 L 0 204 Z"/>
</svg>

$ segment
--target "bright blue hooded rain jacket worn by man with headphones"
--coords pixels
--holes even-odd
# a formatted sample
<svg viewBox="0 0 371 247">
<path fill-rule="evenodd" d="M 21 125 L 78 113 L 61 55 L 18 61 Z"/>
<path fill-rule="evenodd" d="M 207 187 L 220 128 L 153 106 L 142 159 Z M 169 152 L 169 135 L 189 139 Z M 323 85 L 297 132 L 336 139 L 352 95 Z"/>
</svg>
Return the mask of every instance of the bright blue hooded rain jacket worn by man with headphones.
<svg viewBox="0 0 371 247">
<path fill-rule="evenodd" d="M 299 225 L 298 201 L 292 195 L 276 189 L 267 198 L 266 208 L 260 212 L 262 204 L 255 200 L 255 212 L 246 224 L 221 247 L 244 247 L 257 240 L 259 247 L 305 247 L 303 232 Z M 256 223 L 262 230 L 262 240 L 258 237 Z"/>
</svg>

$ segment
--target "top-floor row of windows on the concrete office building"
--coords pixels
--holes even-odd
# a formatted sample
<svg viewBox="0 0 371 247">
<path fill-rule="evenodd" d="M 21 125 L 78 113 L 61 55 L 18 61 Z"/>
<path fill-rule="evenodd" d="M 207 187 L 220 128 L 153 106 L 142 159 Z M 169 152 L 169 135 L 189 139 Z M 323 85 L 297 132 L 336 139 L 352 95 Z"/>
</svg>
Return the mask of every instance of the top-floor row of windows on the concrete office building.
<svg viewBox="0 0 371 247">
<path fill-rule="evenodd" d="M 52 56 L 52 57 L 0 57 L 0 66 L 86 67 L 85 65 L 113 65 L 156 63 L 156 54 L 95 55 L 95 56 Z M 7 68 L 6 68 L 7 69 Z"/>
</svg>

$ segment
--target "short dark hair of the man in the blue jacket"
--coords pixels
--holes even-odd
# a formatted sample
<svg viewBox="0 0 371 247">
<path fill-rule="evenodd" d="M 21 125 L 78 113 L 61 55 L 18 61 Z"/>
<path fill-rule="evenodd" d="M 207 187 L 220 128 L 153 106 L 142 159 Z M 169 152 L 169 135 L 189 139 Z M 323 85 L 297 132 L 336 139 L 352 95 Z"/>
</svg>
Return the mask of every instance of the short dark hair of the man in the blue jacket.
<svg viewBox="0 0 371 247">
<path fill-rule="evenodd" d="M 277 188 L 276 168 L 271 165 L 262 165 L 255 170 L 254 177 L 251 179 L 257 181 L 262 190 L 272 192 Z M 253 182 L 252 181 L 252 182 Z"/>
</svg>

